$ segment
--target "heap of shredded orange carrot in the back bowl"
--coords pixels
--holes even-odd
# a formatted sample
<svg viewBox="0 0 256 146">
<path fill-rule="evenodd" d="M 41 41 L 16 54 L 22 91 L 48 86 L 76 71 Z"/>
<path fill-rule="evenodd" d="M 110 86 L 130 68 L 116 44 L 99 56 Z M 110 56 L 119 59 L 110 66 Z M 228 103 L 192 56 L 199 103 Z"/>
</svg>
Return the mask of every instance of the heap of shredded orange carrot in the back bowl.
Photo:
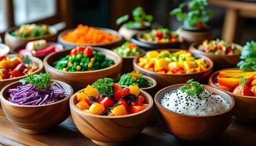
<svg viewBox="0 0 256 146">
<path fill-rule="evenodd" d="M 115 41 L 118 36 L 95 27 L 79 24 L 76 29 L 63 35 L 62 39 L 76 44 L 101 44 Z"/>
</svg>

